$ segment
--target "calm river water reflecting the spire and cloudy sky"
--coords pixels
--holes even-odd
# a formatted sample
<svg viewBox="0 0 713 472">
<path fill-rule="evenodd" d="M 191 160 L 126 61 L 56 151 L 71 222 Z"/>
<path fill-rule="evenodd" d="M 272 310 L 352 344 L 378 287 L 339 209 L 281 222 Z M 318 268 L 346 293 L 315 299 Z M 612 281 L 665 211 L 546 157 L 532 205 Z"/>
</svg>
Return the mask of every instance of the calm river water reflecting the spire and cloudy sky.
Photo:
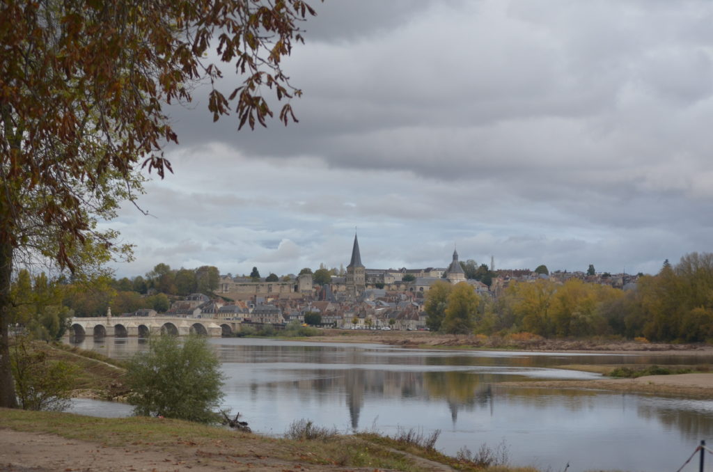
<svg viewBox="0 0 713 472">
<path fill-rule="evenodd" d="M 225 373 L 224 406 L 253 431 L 284 433 L 310 419 L 339 431 L 441 430 L 436 447 L 455 455 L 504 443 L 509 462 L 541 470 L 676 471 L 713 438 L 713 401 L 583 389 L 498 387 L 503 381 L 592 379 L 568 364 L 711 363 L 709 357 L 460 352 L 380 344 L 210 339 Z M 76 344 L 76 343 L 75 343 Z M 145 341 L 86 338 L 77 344 L 127 359 Z M 116 405 L 116 406 L 113 406 Z M 76 401 L 73 411 L 127 414 L 125 405 Z M 94 413 L 92 412 L 94 411 Z M 713 460 L 709 459 L 709 463 Z M 689 464 L 684 471 L 697 471 Z"/>
</svg>

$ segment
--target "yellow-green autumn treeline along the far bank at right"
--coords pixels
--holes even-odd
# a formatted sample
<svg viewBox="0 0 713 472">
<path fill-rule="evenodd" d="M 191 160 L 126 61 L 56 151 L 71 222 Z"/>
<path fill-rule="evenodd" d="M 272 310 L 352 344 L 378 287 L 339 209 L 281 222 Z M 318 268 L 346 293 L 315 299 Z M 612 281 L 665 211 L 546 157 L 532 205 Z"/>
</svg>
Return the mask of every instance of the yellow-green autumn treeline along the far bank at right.
<svg viewBox="0 0 713 472">
<path fill-rule="evenodd" d="M 437 322 L 451 307 L 444 292 L 448 289 L 434 285 L 425 309 L 431 329 L 449 332 Z M 580 279 L 513 282 L 496 300 L 471 306 L 469 317 L 471 332 L 478 334 L 712 342 L 713 255 L 693 252 L 675 267 L 665 262 L 657 275 L 639 277 L 637 287 L 628 291 Z"/>
</svg>

